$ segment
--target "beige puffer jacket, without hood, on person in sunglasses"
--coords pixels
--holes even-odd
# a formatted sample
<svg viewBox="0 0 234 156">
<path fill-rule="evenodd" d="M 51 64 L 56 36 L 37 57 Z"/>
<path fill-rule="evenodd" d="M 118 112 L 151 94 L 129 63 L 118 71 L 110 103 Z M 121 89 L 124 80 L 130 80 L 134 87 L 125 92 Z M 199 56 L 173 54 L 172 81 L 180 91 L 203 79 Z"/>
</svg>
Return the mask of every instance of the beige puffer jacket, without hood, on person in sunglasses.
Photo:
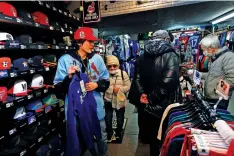
<svg viewBox="0 0 234 156">
<path fill-rule="evenodd" d="M 118 72 L 115 75 L 110 75 L 110 87 L 106 90 L 105 95 L 104 95 L 104 100 L 106 102 L 112 102 L 112 99 L 114 96 L 116 96 L 113 93 L 113 88 L 114 86 L 119 87 L 120 91 L 123 93 L 127 93 L 130 89 L 131 82 L 128 77 L 128 74 L 125 71 L 123 72 L 123 80 L 121 76 L 121 70 L 118 69 Z M 112 102 L 112 107 L 116 108 L 116 103 Z"/>
</svg>

